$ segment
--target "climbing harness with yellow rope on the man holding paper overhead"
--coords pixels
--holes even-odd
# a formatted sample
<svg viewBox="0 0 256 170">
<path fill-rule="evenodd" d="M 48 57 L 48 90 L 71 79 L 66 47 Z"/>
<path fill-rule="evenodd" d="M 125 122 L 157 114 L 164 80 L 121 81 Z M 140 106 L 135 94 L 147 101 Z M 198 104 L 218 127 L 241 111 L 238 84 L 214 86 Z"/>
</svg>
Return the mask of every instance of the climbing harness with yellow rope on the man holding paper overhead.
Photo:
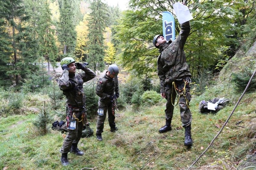
<svg viewBox="0 0 256 170">
<path fill-rule="evenodd" d="M 189 108 L 189 101 L 188 101 L 188 99 L 186 97 L 186 86 L 188 85 L 188 83 L 191 82 L 191 79 L 190 79 L 190 77 L 186 77 L 186 78 L 183 78 L 183 81 L 184 81 L 184 87 L 181 90 L 179 90 L 177 88 L 177 85 L 176 85 L 175 81 L 172 82 L 172 90 L 174 89 L 176 94 L 177 94 L 177 96 L 178 96 L 176 105 L 175 105 L 175 102 L 174 102 L 174 103 L 172 103 L 172 106 L 177 106 L 178 103 L 179 103 L 179 100 L 180 100 L 180 96 L 184 96 L 184 98 L 186 100 L 186 104 L 187 104 L 187 106 Z M 180 92 L 181 94 L 178 94 L 177 91 Z M 172 94 L 171 94 L 171 102 L 172 102 Z"/>
</svg>

